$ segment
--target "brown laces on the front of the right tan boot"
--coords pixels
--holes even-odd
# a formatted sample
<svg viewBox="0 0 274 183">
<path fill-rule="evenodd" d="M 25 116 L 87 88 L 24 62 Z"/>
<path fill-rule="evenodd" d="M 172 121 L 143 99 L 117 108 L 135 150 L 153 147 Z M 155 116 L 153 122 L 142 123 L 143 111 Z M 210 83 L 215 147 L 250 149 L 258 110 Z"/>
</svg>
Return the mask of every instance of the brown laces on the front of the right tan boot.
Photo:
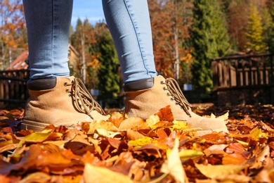
<svg viewBox="0 0 274 183">
<path fill-rule="evenodd" d="M 179 84 L 174 80 L 173 78 L 167 78 L 166 83 L 162 82 L 162 84 L 166 84 L 167 88 L 164 87 L 165 90 L 168 90 L 169 96 L 172 96 L 172 100 L 176 101 L 176 104 L 181 106 L 183 108 L 183 111 L 187 113 L 190 117 L 190 113 L 188 111 L 189 108 L 191 108 L 191 104 L 188 103 L 188 100 L 185 99 L 185 96 L 183 95 L 183 92 L 181 91 Z"/>
</svg>

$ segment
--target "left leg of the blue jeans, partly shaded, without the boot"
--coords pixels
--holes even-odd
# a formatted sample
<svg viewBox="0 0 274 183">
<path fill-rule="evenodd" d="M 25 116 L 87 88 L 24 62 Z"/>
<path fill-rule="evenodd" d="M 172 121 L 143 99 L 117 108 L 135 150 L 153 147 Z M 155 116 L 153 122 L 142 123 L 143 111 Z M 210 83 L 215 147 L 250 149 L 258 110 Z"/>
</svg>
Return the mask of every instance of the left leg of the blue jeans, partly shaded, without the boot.
<svg viewBox="0 0 274 183">
<path fill-rule="evenodd" d="M 67 46 L 73 0 L 23 0 L 29 46 L 30 79 L 67 77 Z"/>
</svg>

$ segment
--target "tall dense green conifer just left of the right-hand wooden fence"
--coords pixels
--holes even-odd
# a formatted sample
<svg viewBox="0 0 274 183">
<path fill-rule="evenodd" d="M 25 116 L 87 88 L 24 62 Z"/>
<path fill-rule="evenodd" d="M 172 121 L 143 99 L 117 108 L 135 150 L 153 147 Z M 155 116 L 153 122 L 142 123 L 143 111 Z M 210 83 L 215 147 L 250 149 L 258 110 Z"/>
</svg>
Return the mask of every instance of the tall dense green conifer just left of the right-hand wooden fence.
<svg viewBox="0 0 274 183">
<path fill-rule="evenodd" d="M 194 0 L 193 4 L 193 87 L 210 91 L 210 59 L 225 56 L 230 48 L 226 18 L 218 0 Z"/>
</svg>

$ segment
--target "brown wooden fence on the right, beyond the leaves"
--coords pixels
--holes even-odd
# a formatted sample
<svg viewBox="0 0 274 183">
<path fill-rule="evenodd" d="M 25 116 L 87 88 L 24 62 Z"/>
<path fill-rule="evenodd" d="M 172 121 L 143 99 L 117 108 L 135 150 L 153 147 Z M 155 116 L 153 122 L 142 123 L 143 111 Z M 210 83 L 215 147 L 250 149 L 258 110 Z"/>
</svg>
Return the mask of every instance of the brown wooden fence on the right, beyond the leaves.
<svg viewBox="0 0 274 183">
<path fill-rule="evenodd" d="M 220 91 L 230 91 L 226 92 L 228 100 L 232 99 L 232 95 L 237 98 L 242 94 L 241 92 L 244 92 L 245 94 L 242 95 L 245 98 L 254 100 L 258 94 L 261 94 L 261 99 L 264 98 L 261 101 L 264 101 L 264 103 L 274 102 L 273 54 L 214 58 L 211 65 L 214 91 L 218 94 L 221 94 Z M 232 90 L 234 91 L 231 92 Z M 222 94 L 225 95 L 224 92 Z M 226 100 L 223 102 L 226 102 Z"/>
</svg>

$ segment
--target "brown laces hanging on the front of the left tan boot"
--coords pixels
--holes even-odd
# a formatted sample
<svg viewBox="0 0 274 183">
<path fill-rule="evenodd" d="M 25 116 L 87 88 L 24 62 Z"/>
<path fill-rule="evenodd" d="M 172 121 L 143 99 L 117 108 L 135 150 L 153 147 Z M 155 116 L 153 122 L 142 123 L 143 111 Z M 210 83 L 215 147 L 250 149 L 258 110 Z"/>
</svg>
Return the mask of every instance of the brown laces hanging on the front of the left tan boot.
<svg viewBox="0 0 274 183">
<path fill-rule="evenodd" d="M 80 113 L 86 113 L 92 119 L 91 111 L 96 110 L 98 113 L 105 115 L 105 112 L 100 107 L 86 89 L 84 83 L 79 78 L 74 78 L 71 83 L 65 82 L 65 86 L 72 86 L 71 90 L 67 89 L 67 93 L 70 93 L 72 100 L 74 101 L 74 107 Z"/>
</svg>

